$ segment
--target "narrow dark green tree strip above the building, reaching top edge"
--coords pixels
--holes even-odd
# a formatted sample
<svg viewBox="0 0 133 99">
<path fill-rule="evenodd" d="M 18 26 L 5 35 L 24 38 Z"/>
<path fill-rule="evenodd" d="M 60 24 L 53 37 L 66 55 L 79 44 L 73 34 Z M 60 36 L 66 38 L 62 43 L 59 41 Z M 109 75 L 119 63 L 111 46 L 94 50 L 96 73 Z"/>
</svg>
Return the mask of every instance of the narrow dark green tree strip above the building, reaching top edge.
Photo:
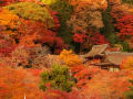
<svg viewBox="0 0 133 99">
<path fill-rule="evenodd" d="M 111 7 L 110 1 L 108 0 L 108 9 L 105 12 L 102 12 L 103 23 L 104 28 L 101 29 L 102 34 L 105 35 L 105 37 L 110 41 L 110 43 L 115 44 L 116 43 L 116 34 L 115 29 L 113 25 L 113 19 L 111 16 Z"/>
</svg>

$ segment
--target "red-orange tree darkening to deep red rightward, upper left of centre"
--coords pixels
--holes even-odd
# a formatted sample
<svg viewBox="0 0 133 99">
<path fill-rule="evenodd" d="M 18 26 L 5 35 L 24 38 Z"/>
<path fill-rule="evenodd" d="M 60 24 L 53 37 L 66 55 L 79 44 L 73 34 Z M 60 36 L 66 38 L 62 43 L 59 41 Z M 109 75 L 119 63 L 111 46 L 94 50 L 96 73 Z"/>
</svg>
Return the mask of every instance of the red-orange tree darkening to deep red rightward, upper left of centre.
<svg viewBox="0 0 133 99">
<path fill-rule="evenodd" d="M 37 41 L 40 44 L 48 44 L 54 48 L 54 53 L 60 53 L 66 45 L 61 37 L 57 36 L 55 32 L 47 30 L 41 22 L 34 23 L 29 20 L 22 20 L 16 37 L 19 38 L 20 42 L 25 41 L 27 43 L 29 40 L 31 43 Z"/>
</svg>

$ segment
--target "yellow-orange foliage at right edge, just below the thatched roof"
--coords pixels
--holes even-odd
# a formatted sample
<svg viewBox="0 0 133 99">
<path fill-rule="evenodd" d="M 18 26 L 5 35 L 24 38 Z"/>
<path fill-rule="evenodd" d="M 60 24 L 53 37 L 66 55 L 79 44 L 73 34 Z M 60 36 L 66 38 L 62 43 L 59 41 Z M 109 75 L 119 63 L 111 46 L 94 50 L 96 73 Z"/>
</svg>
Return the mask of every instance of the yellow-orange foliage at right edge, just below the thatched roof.
<svg viewBox="0 0 133 99">
<path fill-rule="evenodd" d="M 133 56 L 126 57 L 122 62 L 120 67 L 121 67 L 121 69 L 133 70 Z"/>
</svg>

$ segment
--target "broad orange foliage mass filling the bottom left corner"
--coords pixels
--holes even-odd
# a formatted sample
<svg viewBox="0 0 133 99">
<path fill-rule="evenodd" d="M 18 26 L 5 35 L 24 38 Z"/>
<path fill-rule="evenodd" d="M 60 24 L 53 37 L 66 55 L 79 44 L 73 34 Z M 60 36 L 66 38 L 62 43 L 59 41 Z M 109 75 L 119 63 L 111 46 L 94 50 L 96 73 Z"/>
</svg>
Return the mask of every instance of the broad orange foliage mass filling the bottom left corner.
<svg viewBox="0 0 133 99">
<path fill-rule="evenodd" d="M 42 97 L 35 78 L 24 69 L 0 66 L 0 99 L 23 99 L 24 95 L 28 99 Z"/>
</svg>

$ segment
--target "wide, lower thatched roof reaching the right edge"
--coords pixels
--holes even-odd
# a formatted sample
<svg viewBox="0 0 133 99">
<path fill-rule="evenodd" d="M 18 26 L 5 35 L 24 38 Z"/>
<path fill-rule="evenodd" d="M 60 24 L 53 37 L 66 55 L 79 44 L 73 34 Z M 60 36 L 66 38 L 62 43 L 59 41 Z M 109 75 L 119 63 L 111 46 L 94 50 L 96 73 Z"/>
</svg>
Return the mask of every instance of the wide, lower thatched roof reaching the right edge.
<svg viewBox="0 0 133 99">
<path fill-rule="evenodd" d="M 125 53 L 125 52 L 106 52 L 105 59 L 114 65 L 120 65 L 122 61 L 126 57 L 133 56 L 133 53 Z"/>
</svg>

